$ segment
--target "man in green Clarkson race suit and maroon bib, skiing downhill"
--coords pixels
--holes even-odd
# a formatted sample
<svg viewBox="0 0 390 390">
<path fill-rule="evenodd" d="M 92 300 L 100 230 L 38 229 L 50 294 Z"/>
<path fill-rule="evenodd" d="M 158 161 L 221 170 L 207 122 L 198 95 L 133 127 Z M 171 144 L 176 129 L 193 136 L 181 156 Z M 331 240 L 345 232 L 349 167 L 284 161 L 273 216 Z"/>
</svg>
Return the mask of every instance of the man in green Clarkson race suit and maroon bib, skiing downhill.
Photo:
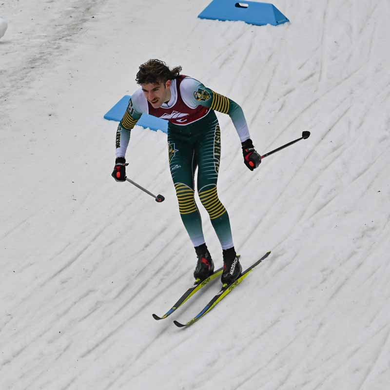
<svg viewBox="0 0 390 390">
<path fill-rule="evenodd" d="M 221 281 L 226 285 L 238 278 L 242 267 L 234 250 L 229 215 L 217 194 L 221 141 L 214 111 L 232 118 L 241 140 L 244 163 L 251 171 L 259 166 L 261 158 L 254 150 L 241 107 L 194 78 L 180 75 L 180 71 L 181 67 L 170 70 L 158 59 L 150 59 L 139 67 L 136 81 L 141 88 L 132 95 L 117 128 L 117 158 L 112 176 L 117 181 L 126 179 L 125 154 L 130 132 L 142 113 L 167 119 L 169 164 L 179 212 L 197 255 L 195 283 L 214 272 L 194 198 L 197 168 L 197 191 L 222 246 Z"/>
</svg>

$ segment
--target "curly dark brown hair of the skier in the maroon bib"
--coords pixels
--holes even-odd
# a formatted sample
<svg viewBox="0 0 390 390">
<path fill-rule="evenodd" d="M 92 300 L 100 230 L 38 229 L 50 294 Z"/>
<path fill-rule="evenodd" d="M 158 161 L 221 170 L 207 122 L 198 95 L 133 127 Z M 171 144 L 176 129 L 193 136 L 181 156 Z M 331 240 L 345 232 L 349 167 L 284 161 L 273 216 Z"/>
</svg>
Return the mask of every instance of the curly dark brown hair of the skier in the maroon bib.
<svg viewBox="0 0 390 390">
<path fill-rule="evenodd" d="M 176 66 L 172 70 L 159 59 L 149 59 L 149 61 L 139 66 L 136 81 L 137 84 L 159 84 L 168 80 L 173 80 L 180 75 L 181 66 Z"/>
</svg>

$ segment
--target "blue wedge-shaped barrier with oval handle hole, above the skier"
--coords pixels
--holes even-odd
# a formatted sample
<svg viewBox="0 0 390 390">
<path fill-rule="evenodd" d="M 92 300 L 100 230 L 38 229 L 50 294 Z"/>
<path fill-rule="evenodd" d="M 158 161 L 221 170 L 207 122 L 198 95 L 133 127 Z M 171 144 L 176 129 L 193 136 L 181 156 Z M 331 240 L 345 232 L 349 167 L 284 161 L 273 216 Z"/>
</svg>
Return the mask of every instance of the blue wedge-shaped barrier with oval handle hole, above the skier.
<svg viewBox="0 0 390 390">
<path fill-rule="evenodd" d="M 241 20 L 258 26 L 265 24 L 276 26 L 290 21 L 273 4 L 244 0 L 213 0 L 198 18 Z"/>
</svg>

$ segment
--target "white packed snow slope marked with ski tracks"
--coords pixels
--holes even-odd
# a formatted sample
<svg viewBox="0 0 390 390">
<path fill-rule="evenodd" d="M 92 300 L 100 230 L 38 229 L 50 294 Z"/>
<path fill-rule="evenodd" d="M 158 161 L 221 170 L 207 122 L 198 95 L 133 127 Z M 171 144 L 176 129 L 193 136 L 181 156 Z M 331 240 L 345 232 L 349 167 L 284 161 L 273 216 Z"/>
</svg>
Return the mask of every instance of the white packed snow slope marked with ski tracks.
<svg viewBox="0 0 390 390">
<path fill-rule="evenodd" d="M 6 1 L 0 41 L 0 389 L 385 390 L 390 383 L 390 6 L 278 0 L 290 23 L 199 20 L 209 0 Z M 218 115 L 218 193 L 244 267 L 164 321 L 195 252 L 166 135 L 137 127 L 111 175 L 117 124 L 150 58 L 243 108 L 250 172 Z M 216 266 L 219 243 L 200 206 Z"/>
</svg>

